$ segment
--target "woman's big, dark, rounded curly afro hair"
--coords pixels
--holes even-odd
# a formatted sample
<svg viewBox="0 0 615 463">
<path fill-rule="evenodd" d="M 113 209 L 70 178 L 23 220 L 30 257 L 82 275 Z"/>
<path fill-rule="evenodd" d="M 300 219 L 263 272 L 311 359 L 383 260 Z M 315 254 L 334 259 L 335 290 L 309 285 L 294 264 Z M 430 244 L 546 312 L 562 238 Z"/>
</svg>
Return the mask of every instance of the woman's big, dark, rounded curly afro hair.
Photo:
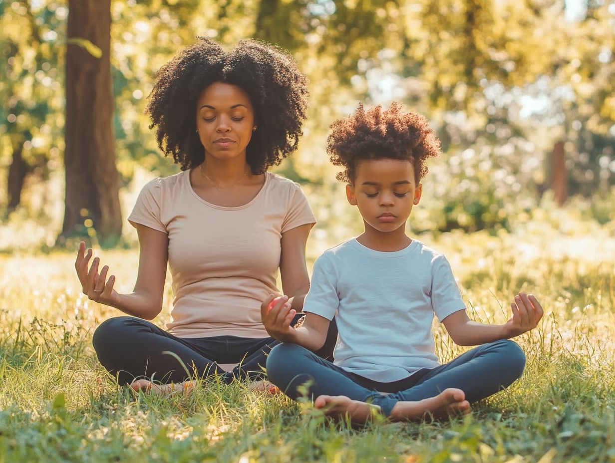
<svg viewBox="0 0 615 463">
<path fill-rule="evenodd" d="M 297 148 L 308 108 L 308 80 L 283 50 L 255 40 L 242 40 L 229 52 L 197 37 L 156 74 L 145 113 L 156 127 L 165 156 L 181 170 L 203 162 L 205 150 L 196 133 L 196 102 L 213 82 L 237 85 L 250 97 L 258 130 L 247 147 L 252 173 L 278 165 Z"/>
</svg>

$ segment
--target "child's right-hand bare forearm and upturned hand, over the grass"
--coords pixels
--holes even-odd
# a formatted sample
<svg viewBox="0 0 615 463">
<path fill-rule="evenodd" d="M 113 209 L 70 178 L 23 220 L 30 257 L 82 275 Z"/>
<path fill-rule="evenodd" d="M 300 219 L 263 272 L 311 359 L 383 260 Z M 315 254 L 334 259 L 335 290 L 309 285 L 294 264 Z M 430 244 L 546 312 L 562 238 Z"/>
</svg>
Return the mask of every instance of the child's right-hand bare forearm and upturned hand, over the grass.
<svg viewBox="0 0 615 463">
<path fill-rule="evenodd" d="M 478 346 L 498 339 L 509 339 L 533 330 L 538 325 L 544 311 L 533 295 L 519 293 L 515 302 L 510 304 L 512 318 L 504 325 L 485 325 L 472 322 L 466 311 L 448 315 L 442 323 L 451 339 L 459 346 Z"/>
</svg>

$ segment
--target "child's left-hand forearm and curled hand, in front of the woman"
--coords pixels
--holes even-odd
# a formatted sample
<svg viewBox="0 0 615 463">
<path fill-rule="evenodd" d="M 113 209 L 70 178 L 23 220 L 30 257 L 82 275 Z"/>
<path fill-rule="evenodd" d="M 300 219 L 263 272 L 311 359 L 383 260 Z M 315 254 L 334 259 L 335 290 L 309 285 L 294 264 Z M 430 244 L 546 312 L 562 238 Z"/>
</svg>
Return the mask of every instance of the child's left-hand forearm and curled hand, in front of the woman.
<svg viewBox="0 0 615 463">
<path fill-rule="evenodd" d="M 299 344 L 308 350 L 318 350 L 325 344 L 330 320 L 320 315 L 308 313 L 300 328 L 290 323 L 296 311 L 288 303 L 288 296 L 282 296 L 273 304 L 274 295 L 269 295 L 261 304 L 261 319 L 269 335 L 280 342 Z"/>
</svg>

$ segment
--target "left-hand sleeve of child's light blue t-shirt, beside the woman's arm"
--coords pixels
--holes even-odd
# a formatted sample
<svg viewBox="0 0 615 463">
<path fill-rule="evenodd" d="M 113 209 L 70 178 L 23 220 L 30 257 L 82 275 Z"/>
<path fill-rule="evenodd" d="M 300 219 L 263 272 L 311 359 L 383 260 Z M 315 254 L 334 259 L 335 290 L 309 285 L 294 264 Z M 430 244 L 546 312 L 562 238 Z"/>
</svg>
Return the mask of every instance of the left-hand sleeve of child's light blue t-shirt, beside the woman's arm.
<svg viewBox="0 0 615 463">
<path fill-rule="evenodd" d="M 336 283 L 337 274 L 333 263 L 326 255 L 320 256 L 314 263 L 312 281 L 303 302 L 303 311 L 333 320 L 339 306 Z"/>
</svg>

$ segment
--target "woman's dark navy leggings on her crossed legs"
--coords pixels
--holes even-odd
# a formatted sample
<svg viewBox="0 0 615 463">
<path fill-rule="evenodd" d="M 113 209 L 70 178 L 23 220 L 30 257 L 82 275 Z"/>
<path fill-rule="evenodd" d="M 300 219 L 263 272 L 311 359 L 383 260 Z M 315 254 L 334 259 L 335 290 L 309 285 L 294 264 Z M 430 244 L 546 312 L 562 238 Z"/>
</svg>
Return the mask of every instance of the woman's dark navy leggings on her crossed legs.
<svg viewBox="0 0 615 463">
<path fill-rule="evenodd" d="M 302 315 L 296 315 L 293 324 Z M 336 339 L 337 327 L 331 323 L 325 345 L 315 354 L 333 359 Z M 267 355 L 279 342 L 237 336 L 178 338 L 146 320 L 116 317 L 98 326 L 92 344 L 100 363 L 119 384 L 139 378 L 177 383 L 212 375 L 229 383 L 233 379 L 264 378 Z M 224 371 L 218 363 L 239 365 Z"/>
</svg>

